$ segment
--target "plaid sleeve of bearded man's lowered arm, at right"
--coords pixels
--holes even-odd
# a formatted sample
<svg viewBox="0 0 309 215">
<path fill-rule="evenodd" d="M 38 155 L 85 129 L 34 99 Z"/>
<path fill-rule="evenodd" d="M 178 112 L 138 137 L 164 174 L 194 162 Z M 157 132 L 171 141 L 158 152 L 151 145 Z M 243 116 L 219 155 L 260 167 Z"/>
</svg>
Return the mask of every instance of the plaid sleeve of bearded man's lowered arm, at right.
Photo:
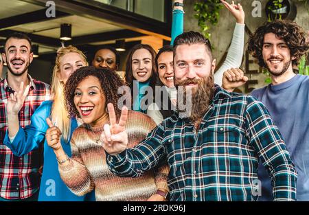
<svg viewBox="0 0 309 215">
<path fill-rule="evenodd" d="M 251 146 L 258 152 L 273 184 L 275 201 L 295 201 L 297 172 L 279 129 L 262 102 L 247 99 L 246 129 Z"/>
</svg>

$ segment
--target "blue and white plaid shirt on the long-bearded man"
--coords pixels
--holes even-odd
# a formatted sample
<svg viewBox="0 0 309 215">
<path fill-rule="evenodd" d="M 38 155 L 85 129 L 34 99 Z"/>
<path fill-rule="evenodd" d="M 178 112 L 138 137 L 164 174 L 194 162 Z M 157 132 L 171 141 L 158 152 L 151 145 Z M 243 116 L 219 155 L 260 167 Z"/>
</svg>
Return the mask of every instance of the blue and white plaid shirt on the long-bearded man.
<svg viewBox="0 0 309 215">
<path fill-rule="evenodd" d="M 167 159 L 171 201 L 256 201 L 259 157 L 275 200 L 295 200 L 297 173 L 265 106 L 216 85 L 198 131 L 174 113 L 138 146 L 106 159 L 125 177 L 139 177 Z"/>
</svg>

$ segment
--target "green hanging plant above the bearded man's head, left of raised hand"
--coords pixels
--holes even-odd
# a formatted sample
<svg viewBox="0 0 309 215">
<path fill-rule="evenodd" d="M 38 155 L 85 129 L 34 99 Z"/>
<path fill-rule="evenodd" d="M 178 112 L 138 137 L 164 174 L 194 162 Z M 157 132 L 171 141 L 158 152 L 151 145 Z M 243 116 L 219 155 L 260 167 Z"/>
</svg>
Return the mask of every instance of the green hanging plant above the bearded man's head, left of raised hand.
<svg viewBox="0 0 309 215">
<path fill-rule="evenodd" d="M 198 19 L 198 26 L 206 38 L 211 36 L 209 33 L 210 25 L 218 24 L 222 8 L 223 5 L 220 3 L 220 0 L 203 0 L 194 3 L 194 11 L 196 11 L 194 17 Z"/>
</svg>

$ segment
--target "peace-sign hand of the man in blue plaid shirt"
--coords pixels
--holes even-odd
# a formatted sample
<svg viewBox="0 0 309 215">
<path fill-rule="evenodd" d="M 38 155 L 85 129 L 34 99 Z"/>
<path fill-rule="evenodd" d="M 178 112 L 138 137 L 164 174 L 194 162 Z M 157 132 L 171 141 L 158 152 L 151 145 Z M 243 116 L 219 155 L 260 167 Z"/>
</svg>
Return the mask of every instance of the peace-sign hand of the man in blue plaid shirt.
<svg viewBox="0 0 309 215">
<path fill-rule="evenodd" d="M 103 142 L 103 147 L 110 155 L 117 155 L 124 151 L 128 146 L 128 133 L 126 133 L 126 120 L 128 117 L 128 109 L 122 107 L 122 115 L 119 122 L 116 122 L 116 115 L 113 104 L 107 104 L 109 124 L 104 125 L 104 131 L 101 134 L 100 140 Z"/>
</svg>

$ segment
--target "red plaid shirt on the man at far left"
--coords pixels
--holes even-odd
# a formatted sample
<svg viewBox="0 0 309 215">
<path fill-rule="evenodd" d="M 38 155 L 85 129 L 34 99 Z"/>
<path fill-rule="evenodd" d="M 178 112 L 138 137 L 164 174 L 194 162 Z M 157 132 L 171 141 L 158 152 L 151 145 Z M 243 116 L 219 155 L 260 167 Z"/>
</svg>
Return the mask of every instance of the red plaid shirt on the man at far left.
<svg viewBox="0 0 309 215">
<path fill-rule="evenodd" d="M 19 124 L 24 128 L 30 124 L 31 116 L 45 100 L 49 100 L 50 87 L 30 76 L 30 91 L 19 111 Z M 0 197 L 4 199 L 27 199 L 38 191 L 41 176 L 38 168 L 42 165 L 41 150 L 33 150 L 27 155 L 16 157 L 3 145 L 8 122 L 6 104 L 12 89 L 6 79 L 0 82 Z"/>
</svg>

